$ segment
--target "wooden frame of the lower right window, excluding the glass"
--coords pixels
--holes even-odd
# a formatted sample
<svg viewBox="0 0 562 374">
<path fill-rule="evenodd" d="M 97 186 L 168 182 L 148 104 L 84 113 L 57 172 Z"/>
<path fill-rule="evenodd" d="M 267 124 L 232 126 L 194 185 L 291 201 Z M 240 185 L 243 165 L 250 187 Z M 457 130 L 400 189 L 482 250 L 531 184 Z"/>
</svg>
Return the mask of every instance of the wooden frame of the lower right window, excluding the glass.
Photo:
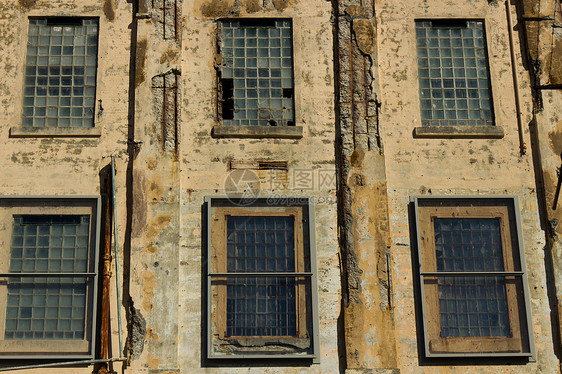
<svg viewBox="0 0 562 374">
<path fill-rule="evenodd" d="M 446 201 L 448 200 L 448 201 Z M 487 201 L 486 201 L 487 200 Z M 534 351 L 530 339 L 530 311 L 524 258 L 521 256 L 520 229 L 514 210 L 513 199 L 495 204 L 490 199 L 476 198 L 447 199 L 416 198 L 418 225 L 418 258 L 420 263 L 420 287 L 424 318 L 426 355 L 524 355 Z M 420 205 L 418 203 L 423 201 Z M 441 202 L 445 204 L 440 205 Z M 430 202 L 426 204 L 426 202 Z M 435 202 L 435 204 L 432 204 Z M 468 203 L 467 203 L 468 202 Z M 510 204 L 511 203 L 511 204 Z M 513 211 L 512 211 L 513 210 Z M 502 275 L 506 280 L 506 296 L 510 336 L 502 337 L 442 337 L 439 310 L 438 277 L 435 274 L 437 260 L 435 250 L 435 218 L 497 218 L 500 221 L 500 235 L 504 272 L 522 272 L 522 275 Z M 462 272 L 458 272 L 462 276 Z M 477 275 L 469 275 L 477 277 Z"/>
</svg>

